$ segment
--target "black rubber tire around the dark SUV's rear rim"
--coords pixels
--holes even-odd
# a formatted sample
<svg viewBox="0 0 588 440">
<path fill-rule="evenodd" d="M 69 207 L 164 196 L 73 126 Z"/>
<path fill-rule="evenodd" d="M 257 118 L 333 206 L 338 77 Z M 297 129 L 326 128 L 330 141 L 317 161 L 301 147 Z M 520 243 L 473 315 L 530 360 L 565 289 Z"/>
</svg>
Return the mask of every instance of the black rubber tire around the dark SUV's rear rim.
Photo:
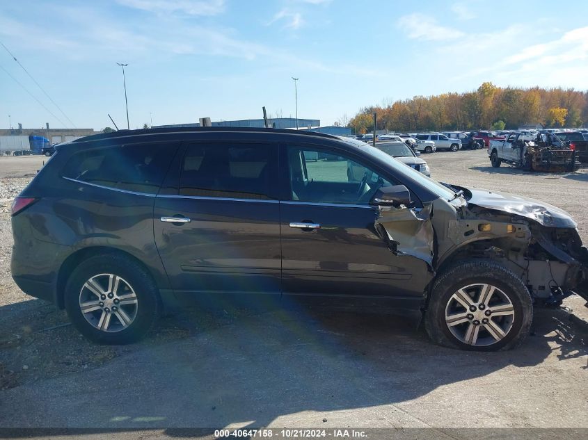
<svg viewBox="0 0 588 440">
<path fill-rule="evenodd" d="M 81 311 L 82 288 L 90 278 L 99 274 L 113 274 L 121 277 L 126 284 L 131 286 L 136 295 L 134 319 L 130 325 L 116 332 L 105 332 L 98 329 L 90 324 Z M 161 313 L 159 291 L 150 274 L 138 262 L 118 254 L 99 254 L 80 263 L 67 280 L 64 300 L 67 315 L 74 327 L 90 341 L 97 343 L 127 344 L 136 342 L 147 334 Z M 102 314 L 102 309 L 95 311 L 95 316 L 100 314 Z M 114 316 L 113 312 L 110 314 Z M 117 322 L 118 325 L 121 324 L 119 318 L 113 321 L 115 324 Z"/>
</svg>

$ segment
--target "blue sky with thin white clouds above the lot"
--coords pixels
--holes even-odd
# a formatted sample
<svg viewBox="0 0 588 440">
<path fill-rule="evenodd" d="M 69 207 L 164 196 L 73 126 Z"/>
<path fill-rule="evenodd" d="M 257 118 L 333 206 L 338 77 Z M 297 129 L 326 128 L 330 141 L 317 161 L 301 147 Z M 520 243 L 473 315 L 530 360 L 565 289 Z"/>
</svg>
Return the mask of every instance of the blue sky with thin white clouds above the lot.
<svg viewBox="0 0 588 440">
<path fill-rule="evenodd" d="M 323 125 L 484 81 L 588 90 L 587 17 L 580 0 L 0 0 L 0 42 L 53 100 L 0 46 L 0 129 L 126 127 L 117 63 L 132 129 L 294 117 L 292 76 Z"/>
</svg>

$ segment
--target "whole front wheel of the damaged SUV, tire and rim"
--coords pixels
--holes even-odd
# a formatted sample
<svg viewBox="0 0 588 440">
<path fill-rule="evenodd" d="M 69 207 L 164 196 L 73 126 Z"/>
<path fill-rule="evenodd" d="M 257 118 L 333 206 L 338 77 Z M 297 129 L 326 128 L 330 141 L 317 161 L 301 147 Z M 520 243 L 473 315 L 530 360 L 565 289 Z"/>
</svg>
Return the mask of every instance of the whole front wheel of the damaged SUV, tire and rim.
<svg viewBox="0 0 588 440">
<path fill-rule="evenodd" d="M 461 261 L 443 272 L 425 315 L 429 337 L 462 350 L 509 350 L 533 319 L 531 296 L 514 272 L 490 260 Z"/>
</svg>

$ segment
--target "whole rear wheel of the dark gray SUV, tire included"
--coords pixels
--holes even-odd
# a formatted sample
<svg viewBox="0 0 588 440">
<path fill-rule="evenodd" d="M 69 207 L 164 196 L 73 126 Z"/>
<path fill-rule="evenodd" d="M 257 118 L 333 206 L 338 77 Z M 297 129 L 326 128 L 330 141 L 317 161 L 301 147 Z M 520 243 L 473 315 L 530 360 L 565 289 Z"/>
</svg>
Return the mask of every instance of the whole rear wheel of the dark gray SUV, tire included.
<svg viewBox="0 0 588 440">
<path fill-rule="evenodd" d="M 65 309 L 81 334 L 98 343 L 138 341 L 161 310 L 157 286 L 136 261 L 100 254 L 82 262 L 65 287 Z"/>
</svg>

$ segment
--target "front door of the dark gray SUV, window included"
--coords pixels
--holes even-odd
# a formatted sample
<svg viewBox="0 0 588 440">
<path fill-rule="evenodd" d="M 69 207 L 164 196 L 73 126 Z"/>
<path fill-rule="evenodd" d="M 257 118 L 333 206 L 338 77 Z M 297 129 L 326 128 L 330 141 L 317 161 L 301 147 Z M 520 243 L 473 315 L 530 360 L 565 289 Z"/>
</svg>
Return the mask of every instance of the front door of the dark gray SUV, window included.
<svg viewBox="0 0 588 440">
<path fill-rule="evenodd" d="M 345 153 L 284 148 L 284 295 L 395 297 L 418 307 L 430 280 L 427 263 L 391 252 L 376 231 L 379 211 L 370 206 L 379 186 L 393 179 Z"/>
</svg>

